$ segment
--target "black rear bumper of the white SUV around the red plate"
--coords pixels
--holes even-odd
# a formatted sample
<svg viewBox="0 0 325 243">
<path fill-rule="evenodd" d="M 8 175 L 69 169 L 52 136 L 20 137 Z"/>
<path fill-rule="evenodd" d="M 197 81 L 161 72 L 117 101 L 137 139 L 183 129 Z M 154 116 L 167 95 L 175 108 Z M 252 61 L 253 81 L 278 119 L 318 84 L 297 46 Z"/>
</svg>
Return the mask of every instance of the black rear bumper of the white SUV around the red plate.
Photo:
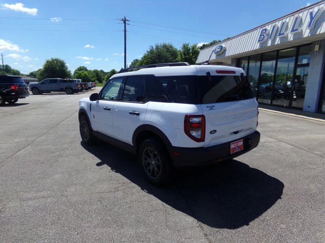
<svg viewBox="0 0 325 243">
<path fill-rule="evenodd" d="M 242 155 L 253 148 L 257 147 L 259 138 L 261 135 L 259 132 L 247 135 L 245 137 L 236 139 L 234 141 L 243 139 L 244 149 L 237 153 L 230 153 L 230 144 L 234 141 L 218 144 L 211 147 L 200 147 L 200 148 L 182 148 L 182 147 L 171 147 L 170 154 L 172 156 L 173 165 L 175 167 L 181 166 L 202 166 L 217 163 L 219 159 L 231 159 L 239 155 Z M 175 156 L 173 152 L 178 152 L 180 155 Z"/>
</svg>

